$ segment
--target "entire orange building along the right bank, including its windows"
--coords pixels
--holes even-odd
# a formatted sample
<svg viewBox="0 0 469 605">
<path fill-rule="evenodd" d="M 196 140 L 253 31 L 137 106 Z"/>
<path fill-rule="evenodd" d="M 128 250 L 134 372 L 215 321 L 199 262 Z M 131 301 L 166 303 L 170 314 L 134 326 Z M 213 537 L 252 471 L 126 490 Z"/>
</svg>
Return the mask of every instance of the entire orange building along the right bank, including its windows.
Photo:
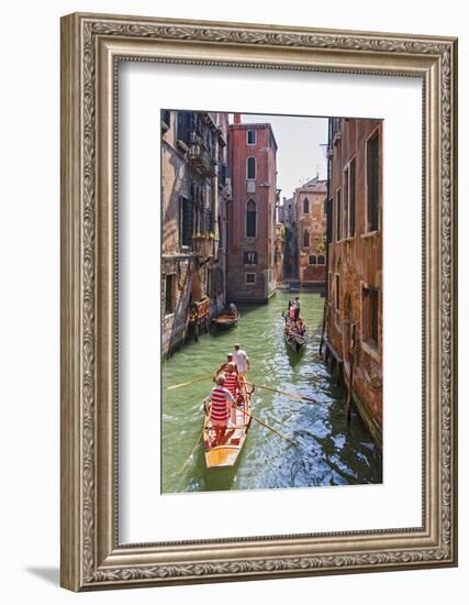
<svg viewBox="0 0 469 605">
<path fill-rule="evenodd" d="M 382 440 L 382 122 L 331 119 L 326 360 Z M 353 348 L 353 334 L 355 346 Z"/>
</svg>

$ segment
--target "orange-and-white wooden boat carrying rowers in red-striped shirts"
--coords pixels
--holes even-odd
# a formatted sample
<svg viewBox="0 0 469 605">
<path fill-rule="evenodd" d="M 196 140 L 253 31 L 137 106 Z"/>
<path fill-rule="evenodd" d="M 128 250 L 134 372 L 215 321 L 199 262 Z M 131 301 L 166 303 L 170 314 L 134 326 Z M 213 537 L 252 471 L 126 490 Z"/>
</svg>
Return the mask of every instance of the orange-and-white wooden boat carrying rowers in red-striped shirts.
<svg viewBox="0 0 469 605">
<path fill-rule="evenodd" d="M 242 394 L 243 403 L 237 404 L 236 420 L 234 425 L 228 424 L 224 443 L 220 446 L 213 443 L 215 430 L 210 420 L 209 407 L 204 406 L 203 444 L 205 447 L 205 464 L 208 469 L 222 469 L 233 466 L 236 463 L 250 426 L 250 417 L 244 414 L 244 410 L 250 414 L 250 393 L 246 385 L 242 388 Z"/>
</svg>

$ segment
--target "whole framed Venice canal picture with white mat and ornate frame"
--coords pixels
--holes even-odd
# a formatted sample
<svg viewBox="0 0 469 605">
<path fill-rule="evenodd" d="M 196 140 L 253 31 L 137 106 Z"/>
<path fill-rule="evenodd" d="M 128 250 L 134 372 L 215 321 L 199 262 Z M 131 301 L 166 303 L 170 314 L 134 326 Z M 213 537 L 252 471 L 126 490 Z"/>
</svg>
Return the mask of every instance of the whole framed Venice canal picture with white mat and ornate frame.
<svg viewBox="0 0 469 605">
<path fill-rule="evenodd" d="M 62 585 L 457 564 L 457 41 L 62 20 Z"/>
</svg>

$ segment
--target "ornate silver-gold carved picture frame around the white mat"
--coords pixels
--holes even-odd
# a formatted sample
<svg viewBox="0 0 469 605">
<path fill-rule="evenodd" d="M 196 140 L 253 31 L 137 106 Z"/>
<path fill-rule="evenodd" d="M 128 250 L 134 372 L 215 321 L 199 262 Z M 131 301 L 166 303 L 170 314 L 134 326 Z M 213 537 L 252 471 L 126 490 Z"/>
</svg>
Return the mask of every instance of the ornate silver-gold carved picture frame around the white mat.
<svg viewBox="0 0 469 605">
<path fill-rule="evenodd" d="M 119 544 L 115 66 L 156 61 L 423 80 L 423 526 Z M 239 23 L 62 20 L 62 585 L 72 591 L 457 564 L 457 41 Z"/>
</svg>

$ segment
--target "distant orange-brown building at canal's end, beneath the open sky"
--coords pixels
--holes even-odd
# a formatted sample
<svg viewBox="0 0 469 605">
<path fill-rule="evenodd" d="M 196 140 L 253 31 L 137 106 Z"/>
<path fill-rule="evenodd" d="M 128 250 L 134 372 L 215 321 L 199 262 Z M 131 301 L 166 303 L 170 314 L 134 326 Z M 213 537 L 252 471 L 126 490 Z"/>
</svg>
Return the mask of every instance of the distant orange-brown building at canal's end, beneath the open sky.
<svg viewBox="0 0 469 605">
<path fill-rule="evenodd" d="M 301 286 L 324 286 L 326 283 L 326 198 L 327 180 L 320 180 L 317 176 L 298 187 L 293 195 Z"/>
</svg>

